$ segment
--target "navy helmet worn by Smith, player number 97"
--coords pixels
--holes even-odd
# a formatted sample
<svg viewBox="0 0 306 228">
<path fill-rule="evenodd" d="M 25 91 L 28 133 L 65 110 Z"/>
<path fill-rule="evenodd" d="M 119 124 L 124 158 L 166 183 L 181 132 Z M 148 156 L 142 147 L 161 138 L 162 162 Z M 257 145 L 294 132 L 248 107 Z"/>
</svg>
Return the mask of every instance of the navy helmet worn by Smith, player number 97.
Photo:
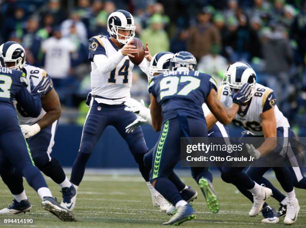
<svg viewBox="0 0 306 228">
<path fill-rule="evenodd" d="M 173 58 L 170 60 L 170 70 L 179 70 L 179 68 L 196 70 L 197 63 L 195 57 L 188 51 L 179 51 L 175 53 Z"/>
</svg>

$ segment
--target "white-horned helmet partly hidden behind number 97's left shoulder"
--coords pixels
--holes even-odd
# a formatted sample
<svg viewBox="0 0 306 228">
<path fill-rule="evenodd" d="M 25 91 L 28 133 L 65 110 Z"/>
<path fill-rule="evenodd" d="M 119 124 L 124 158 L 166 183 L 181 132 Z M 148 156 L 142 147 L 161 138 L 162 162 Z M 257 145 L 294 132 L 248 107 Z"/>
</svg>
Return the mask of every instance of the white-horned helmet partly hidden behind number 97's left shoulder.
<svg viewBox="0 0 306 228">
<path fill-rule="evenodd" d="M 169 70 L 170 60 L 174 54 L 169 51 L 161 51 L 156 53 L 148 67 L 147 79 L 150 80 L 155 73 L 162 73 Z"/>
</svg>

